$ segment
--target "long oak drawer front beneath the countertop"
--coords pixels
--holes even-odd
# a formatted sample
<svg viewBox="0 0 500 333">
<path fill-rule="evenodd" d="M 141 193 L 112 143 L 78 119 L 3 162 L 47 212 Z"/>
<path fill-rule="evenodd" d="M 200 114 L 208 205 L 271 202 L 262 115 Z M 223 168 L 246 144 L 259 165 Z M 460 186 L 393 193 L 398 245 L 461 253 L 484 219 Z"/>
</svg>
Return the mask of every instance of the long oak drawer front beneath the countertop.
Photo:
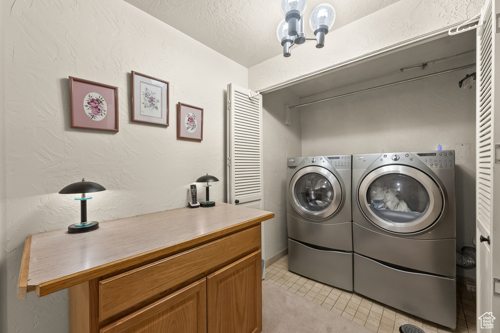
<svg viewBox="0 0 500 333">
<path fill-rule="evenodd" d="M 260 226 L 99 282 L 99 321 L 260 249 Z"/>
</svg>

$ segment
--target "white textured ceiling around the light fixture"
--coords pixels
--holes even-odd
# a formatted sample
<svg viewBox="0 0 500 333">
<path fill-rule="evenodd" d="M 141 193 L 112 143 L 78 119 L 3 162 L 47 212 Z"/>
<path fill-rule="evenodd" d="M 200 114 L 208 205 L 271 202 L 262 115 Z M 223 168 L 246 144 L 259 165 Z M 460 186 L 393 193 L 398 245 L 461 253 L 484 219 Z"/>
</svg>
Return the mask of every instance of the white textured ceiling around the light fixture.
<svg viewBox="0 0 500 333">
<path fill-rule="evenodd" d="M 280 0 L 125 0 L 229 59 L 249 68 L 282 54 L 276 27 L 283 19 Z M 309 0 L 304 17 L 307 38 L 314 37 L 308 17 L 329 2 L 336 11 L 331 30 L 369 15 L 399 0 Z M 326 36 L 326 43 L 328 41 Z M 313 41 L 294 47 L 314 47 Z"/>
</svg>

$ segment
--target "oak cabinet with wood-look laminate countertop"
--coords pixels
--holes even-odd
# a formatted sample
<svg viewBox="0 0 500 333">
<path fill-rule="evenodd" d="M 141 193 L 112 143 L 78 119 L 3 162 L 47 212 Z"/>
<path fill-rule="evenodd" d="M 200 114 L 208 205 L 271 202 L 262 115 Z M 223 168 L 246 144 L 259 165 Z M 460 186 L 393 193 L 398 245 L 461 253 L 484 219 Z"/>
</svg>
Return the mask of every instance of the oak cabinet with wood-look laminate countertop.
<svg viewBox="0 0 500 333">
<path fill-rule="evenodd" d="M 273 216 L 217 203 L 30 235 L 18 297 L 69 288 L 70 333 L 260 333 L 260 222 Z"/>
</svg>

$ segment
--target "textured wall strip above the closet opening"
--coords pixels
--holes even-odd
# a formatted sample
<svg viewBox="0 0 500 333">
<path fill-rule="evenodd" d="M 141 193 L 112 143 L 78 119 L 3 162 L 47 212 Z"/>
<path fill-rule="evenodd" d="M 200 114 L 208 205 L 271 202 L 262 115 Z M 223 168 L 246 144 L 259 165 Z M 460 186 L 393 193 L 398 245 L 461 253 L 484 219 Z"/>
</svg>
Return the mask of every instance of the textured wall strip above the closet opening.
<svg viewBox="0 0 500 333">
<path fill-rule="evenodd" d="M 484 0 L 400 0 L 326 35 L 321 49 L 309 41 L 248 69 L 252 90 L 372 53 L 458 23 L 480 12 Z"/>
</svg>

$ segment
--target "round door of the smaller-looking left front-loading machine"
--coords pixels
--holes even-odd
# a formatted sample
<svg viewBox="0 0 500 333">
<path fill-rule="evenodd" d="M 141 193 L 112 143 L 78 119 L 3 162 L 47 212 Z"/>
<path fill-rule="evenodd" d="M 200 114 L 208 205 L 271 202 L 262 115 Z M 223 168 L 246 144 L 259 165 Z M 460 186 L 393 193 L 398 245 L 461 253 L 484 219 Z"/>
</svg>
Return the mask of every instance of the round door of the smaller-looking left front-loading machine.
<svg viewBox="0 0 500 333">
<path fill-rule="evenodd" d="M 289 198 L 295 210 L 308 219 L 334 214 L 342 202 L 342 187 L 333 173 L 318 166 L 298 170 L 290 181 Z"/>
</svg>

